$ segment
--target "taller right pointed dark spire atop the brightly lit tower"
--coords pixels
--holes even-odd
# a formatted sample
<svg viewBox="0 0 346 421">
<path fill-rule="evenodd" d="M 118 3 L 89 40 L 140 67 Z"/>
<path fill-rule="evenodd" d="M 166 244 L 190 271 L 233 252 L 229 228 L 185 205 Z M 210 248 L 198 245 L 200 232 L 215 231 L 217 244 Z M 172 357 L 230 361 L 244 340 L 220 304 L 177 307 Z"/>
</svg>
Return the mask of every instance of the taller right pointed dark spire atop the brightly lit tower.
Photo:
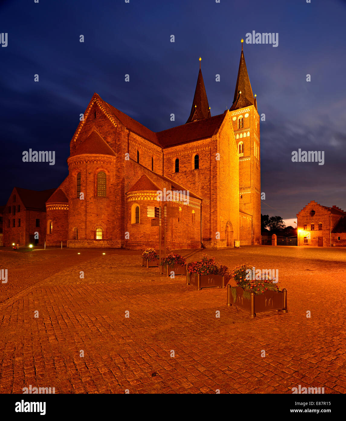
<svg viewBox="0 0 346 421">
<path fill-rule="evenodd" d="M 230 110 L 248 107 L 254 105 L 254 95 L 250 84 L 249 75 L 246 69 L 243 42 L 241 39 L 241 55 L 238 69 L 238 77 L 236 83 L 236 89 L 234 91 L 233 105 Z"/>
</svg>

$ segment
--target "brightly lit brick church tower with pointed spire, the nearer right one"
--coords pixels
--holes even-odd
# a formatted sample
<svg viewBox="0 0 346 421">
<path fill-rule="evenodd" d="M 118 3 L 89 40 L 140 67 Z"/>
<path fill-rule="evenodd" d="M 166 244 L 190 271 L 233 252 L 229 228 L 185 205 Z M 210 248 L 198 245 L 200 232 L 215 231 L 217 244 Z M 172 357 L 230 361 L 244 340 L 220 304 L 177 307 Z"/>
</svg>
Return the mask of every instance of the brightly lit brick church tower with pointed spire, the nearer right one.
<svg viewBox="0 0 346 421">
<path fill-rule="evenodd" d="M 261 243 L 261 176 L 259 114 L 246 69 L 243 42 L 230 112 L 239 155 L 240 241 L 246 245 Z"/>
</svg>

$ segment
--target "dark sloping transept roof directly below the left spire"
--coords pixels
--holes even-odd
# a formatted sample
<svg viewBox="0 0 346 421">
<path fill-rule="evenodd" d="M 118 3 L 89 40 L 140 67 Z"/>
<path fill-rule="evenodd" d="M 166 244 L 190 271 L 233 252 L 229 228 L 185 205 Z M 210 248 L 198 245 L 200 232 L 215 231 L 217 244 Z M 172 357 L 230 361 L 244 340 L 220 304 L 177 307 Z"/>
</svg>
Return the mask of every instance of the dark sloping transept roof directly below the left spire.
<svg viewBox="0 0 346 421">
<path fill-rule="evenodd" d="M 189 124 L 172 127 L 168 130 L 157 132 L 157 138 L 163 148 L 207 139 L 218 132 L 224 118 L 225 113 L 204 118 L 204 120 L 193 121 Z"/>
</svg>

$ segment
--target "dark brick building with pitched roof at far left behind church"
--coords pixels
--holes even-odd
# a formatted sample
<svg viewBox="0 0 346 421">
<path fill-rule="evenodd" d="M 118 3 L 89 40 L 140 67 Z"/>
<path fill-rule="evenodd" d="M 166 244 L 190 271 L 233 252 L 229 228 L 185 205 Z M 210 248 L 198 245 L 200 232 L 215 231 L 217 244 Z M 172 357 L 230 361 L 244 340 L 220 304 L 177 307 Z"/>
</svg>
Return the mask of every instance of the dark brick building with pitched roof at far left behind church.
<svg viewBox="0 0 346 421">
<path fill-rule="evenodd" d="M 45 203 L 54 192 L 55 189 L 41 192 L 19 187 L 13 189 L 3 210 L 3 245 L 45 244 Z"/>
</svg>

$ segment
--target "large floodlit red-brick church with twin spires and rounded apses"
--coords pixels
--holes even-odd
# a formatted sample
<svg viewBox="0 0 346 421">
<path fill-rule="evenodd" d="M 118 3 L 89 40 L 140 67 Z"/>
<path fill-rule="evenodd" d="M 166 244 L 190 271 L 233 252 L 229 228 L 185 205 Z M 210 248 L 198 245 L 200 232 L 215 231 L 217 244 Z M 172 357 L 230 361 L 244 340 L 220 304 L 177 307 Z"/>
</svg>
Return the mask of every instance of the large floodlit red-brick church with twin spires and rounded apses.
<svg viewBox="0 0 346 421">
<path fill-rule="evenodd" d="M 176 208 L 167 218 L 168 249 L 260 244 L 259 147 L 243 48 L 233 104 L 220 115 L 210 114 L 200 66 L 189 118 L 168 130 L 153 132 L 94 93 L 70 143 L 68 176 L 45 202 L 37 243 L 158 248 L 147 207 L 166 205 Z M 188 191 L 189 200 L 157 201 L 158 191 Z M 10 244 L 17 239 L 8 225 Z"/>
</svg>

